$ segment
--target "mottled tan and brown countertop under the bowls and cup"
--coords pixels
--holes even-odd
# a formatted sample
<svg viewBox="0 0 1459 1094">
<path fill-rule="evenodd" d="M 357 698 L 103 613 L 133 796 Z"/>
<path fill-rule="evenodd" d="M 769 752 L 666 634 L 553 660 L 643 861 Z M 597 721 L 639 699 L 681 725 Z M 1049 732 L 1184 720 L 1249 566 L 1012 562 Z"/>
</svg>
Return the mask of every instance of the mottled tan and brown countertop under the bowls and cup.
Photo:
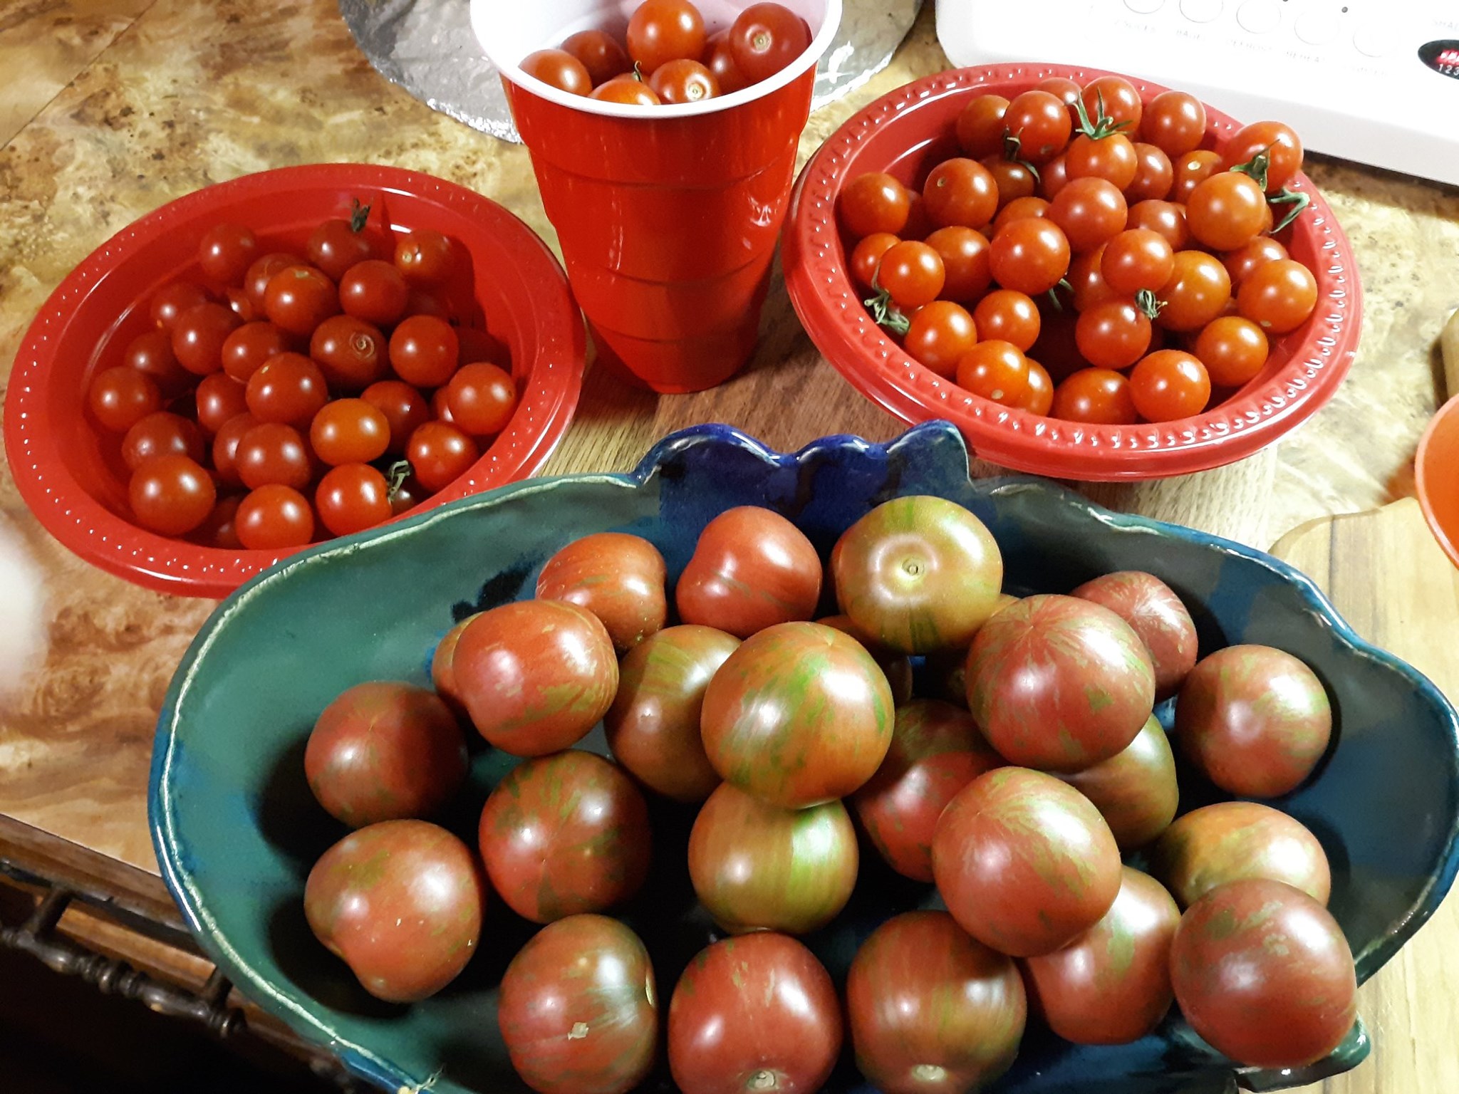
<svg viewBox="0 0 1459 1094">
<path fill-rule="evenodd" d="M 932 7 L 887 70 L 811 118 L 802 162 L 856 108 L 947 66 Z M 165 201 L 252 171 L 328 160 L 426 171 L 500 201 L 554 242 L 525 150 L 378 76 L 333 0 L 22 0 L 0 10 L 0 381 L 36 309 L 88 252 Z M 1361 346 L 1342 389 L 1255 457 L 1081 487 L 1097 502 L 1266 547 L 1304 521 L 1409 492 L 1412 452 L 1441 394 L 1436 338 L 1459 305 L 1459 191 L 1341 162 L 1312 162 L 1309 174 L 1364 286 Z M 728 422 L 782 449 L 824 433 L 900 432 L 820 359 L 779 280 L 762 331 L 751 366 L 697 395 L 657 397 L 589 373 L 544 473 L 627 468 L 665 432 L 697 422 Z M 50 636 L 41 670 L 0 699 L 0 855 L 28 842 L 32 858 L 107 874 L 156 907 L 153 722 L 212 604 L 143 591 L 70 556 L 25 509 L 7 464 L 0 537 L 44 573 Z M 1377 1078 L 1355 1081 L 1342 1090 L 1379 1088 Z"/>
</svg>

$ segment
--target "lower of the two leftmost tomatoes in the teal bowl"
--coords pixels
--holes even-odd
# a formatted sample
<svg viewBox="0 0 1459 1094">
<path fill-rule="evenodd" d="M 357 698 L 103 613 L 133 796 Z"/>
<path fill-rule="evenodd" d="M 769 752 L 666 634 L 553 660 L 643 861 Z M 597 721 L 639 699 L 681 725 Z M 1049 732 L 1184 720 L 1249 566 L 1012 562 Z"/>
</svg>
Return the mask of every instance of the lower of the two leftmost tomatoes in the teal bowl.
<svg viewBox="0 0 1459 1094">
<path fill-rule="evenodd" d="M 366 992 L 391 1002 L 425 999 L 460 974 L 484 907 L 471 852 L 419 820 L 352 831 L 314 864 L 303 887 L 315 938 Z"/>
</svg>

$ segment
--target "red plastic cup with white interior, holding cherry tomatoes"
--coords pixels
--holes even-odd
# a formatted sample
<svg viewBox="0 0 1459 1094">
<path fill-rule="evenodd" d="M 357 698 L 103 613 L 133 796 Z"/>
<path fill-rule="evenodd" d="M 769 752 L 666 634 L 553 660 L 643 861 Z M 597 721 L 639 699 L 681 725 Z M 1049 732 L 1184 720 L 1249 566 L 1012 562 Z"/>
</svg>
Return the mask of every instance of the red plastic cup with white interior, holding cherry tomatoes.
<svg viewBox="0 0 1459 1094">
<path fill-rule="evenodd" d="M 840 22 L 840 0 L 781 1 L 813 36 L 791 66 L 732 95 L 651 108 L 570 95 L 518 67 L 578 31 L 623 41 L 639 0 L 471 6 L 598 356 L 654 391 L 712 388 L 754 352 L 816 61 Z M 748 4 L 697 6 L 713 34 Z"/>
</svg>

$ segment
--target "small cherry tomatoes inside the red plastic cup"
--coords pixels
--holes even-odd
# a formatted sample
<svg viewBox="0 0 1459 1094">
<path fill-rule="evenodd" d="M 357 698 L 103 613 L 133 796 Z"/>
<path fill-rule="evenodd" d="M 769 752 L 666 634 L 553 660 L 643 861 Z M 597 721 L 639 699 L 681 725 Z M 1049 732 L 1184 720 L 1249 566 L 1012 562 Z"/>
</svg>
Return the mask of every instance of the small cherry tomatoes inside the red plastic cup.
<svg viewBox="0 0 1459 1094">
<path fill-rule="evenodd" d="M 578 31 L 519 67 L 570 95 L 659 106 L 732 95 L 770 79 L 810 45 L 810 26 L 783 4 L 750 4 L 727 29 L 708 34 L 692 0 L 643 0 L 623 42 L 607 31 Z"/>
</svg>

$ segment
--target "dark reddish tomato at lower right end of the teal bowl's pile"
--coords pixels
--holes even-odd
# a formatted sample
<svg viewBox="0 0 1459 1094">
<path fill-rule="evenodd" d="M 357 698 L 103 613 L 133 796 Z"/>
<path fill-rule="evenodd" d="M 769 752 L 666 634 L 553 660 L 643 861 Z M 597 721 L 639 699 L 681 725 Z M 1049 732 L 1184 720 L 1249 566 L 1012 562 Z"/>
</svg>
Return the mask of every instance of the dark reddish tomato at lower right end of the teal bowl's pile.
<svg viewBox="0 0 1459 1094">
<path fill-rule="evenodd" d="M 1300 1068 L 1332 1052 L 1357 1017 L 1342 928 L 1316 900 L 1265 878 L 1207 893 L 1180 920 L 1170 980 L 1192 1028 L 1258 1068 Z"/>
</svg>

